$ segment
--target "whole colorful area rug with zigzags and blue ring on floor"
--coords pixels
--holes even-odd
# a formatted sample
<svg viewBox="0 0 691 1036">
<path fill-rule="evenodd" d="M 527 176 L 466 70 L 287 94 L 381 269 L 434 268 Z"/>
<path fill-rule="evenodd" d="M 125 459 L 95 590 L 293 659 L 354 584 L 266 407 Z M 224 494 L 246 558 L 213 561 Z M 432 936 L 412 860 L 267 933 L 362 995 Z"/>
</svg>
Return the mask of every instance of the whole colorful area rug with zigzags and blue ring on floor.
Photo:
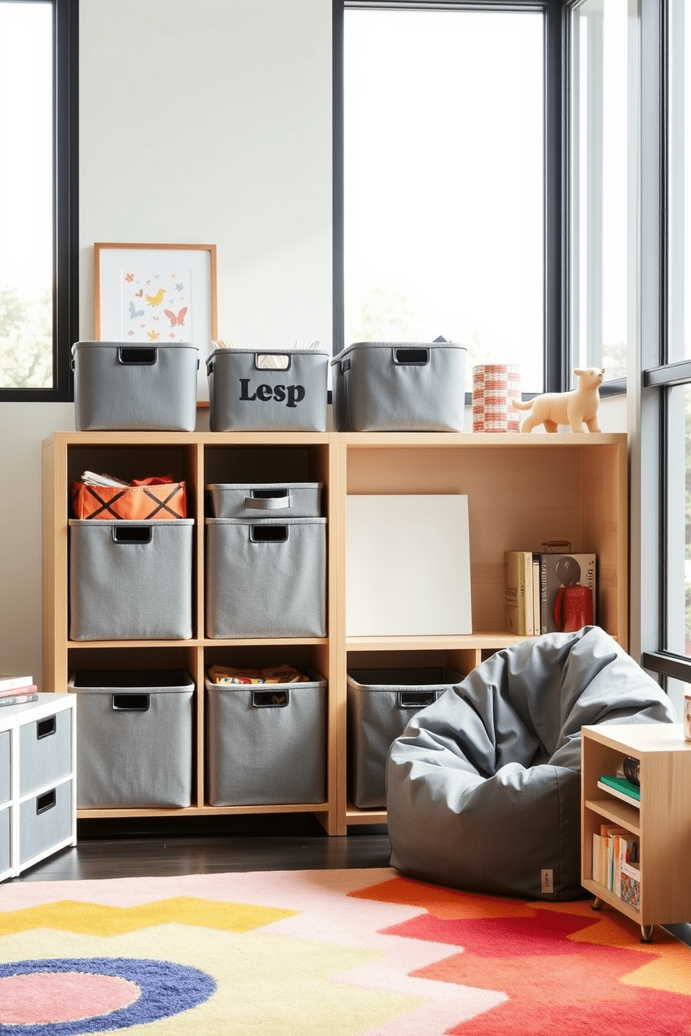
<svg viewBox="0 0 691 1036">
<path fill-rule="evenodd" d="M 0 1036 L 684 1036 L 691 948 L 390 869 L 0 886 Z"/>
</svg>

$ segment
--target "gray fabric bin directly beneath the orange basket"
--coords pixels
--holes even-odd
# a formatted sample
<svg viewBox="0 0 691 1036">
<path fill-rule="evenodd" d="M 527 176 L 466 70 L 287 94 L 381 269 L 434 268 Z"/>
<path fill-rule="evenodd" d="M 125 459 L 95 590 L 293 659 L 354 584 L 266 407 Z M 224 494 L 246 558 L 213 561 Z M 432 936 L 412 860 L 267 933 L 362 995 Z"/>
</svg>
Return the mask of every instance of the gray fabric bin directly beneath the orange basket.
<svg viewBox="0 0 691 1036">
<path fill-rule="evenodd" d="M 70 639 L 192 637 L 192 518 L 68 524 Z"/>
</svg>

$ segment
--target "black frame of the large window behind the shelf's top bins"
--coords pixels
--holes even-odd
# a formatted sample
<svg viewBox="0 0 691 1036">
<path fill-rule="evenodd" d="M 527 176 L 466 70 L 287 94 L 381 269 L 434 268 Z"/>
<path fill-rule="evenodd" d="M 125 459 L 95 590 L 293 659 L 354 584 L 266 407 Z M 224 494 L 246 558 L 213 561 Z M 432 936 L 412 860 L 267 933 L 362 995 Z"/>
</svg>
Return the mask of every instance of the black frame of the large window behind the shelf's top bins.
<svg viewBox="0 0 691 1036">
<path fill-rule="evenodd" d="M 546 392 L 571 388 L 570 341 L 570 16 L 578 0 L 333 0 L 334 68 L 334 353 L 344 348 L 344 183 L 343 20 L 345 8 L 541 11 L 544 33 L 543 152 L 544 209 L 544 355 Z M 602 396 L 626 391 L 626 379 L 605 382 Z M 466 403 L 470 394 L 466 393 Z"/>
</svg>

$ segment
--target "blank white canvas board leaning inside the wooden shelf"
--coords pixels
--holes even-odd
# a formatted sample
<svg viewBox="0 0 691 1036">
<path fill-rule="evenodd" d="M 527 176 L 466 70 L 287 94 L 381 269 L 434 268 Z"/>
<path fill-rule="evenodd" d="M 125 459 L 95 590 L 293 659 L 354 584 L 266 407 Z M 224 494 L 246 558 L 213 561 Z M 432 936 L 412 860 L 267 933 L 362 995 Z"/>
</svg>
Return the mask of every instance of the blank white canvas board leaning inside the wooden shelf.
<svg viewBox="0 0 691 1036">
<path fill-rule="evenodd" d="M 472 632 L 468 498 L 348 496 L 346 635 Z"/>
</svg>

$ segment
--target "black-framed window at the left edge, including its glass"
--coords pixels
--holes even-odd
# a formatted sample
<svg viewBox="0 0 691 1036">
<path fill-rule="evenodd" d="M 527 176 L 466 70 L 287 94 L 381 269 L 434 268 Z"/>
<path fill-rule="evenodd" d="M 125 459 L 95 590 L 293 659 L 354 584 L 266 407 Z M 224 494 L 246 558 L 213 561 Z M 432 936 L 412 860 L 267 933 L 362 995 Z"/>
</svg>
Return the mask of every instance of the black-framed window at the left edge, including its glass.
<svg viewBox="0 0 691 1036">
<path fill-rule="evenodd" d="M 0 0 L 0 401 L 71 398 L 78 15 L 77 0 Z"/>
</svg>

